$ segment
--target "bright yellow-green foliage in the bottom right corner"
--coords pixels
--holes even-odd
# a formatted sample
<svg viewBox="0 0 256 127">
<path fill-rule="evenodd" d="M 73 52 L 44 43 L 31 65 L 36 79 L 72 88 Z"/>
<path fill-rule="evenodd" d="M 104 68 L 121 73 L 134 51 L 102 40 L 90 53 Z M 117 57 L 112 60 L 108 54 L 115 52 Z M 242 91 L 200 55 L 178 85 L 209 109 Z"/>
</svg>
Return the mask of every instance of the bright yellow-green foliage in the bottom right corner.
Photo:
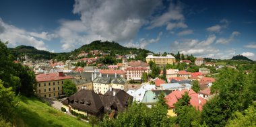
<svg viewBox="0 0 256 127">
<path fill-rule="evenodd" d="M 228 120 L 228 124 L 226 126 L 256 126 L 255 105 L 252 105 L 243 112 L 234 112 L 232 119 Z"/>
</svg>

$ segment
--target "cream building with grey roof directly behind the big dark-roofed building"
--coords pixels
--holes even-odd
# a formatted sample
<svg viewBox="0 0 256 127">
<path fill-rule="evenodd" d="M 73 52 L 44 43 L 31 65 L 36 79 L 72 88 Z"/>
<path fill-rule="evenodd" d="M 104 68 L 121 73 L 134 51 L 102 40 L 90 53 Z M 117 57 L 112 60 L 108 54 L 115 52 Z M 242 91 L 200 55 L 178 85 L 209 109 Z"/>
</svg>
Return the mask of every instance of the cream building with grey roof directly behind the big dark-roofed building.
<svg viewBox="0 0 256 127">
<path fill-rule="evenodd" d="M 104 77 L 102 74 L 96 77 L 93 81 L 94 92 L 98 94 L 105 94 L 109 89 L 127 89 L 127 81 L 123 77 Z"/>
</svg>

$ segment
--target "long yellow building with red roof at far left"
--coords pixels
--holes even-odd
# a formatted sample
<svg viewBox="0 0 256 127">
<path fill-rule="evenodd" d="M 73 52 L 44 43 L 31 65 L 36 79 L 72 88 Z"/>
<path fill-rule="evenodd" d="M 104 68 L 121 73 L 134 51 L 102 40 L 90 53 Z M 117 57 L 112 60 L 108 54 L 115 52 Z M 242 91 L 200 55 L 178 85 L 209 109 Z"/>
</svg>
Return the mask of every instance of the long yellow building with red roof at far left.
<svg viewBox="0 0 256 127">
<path fill-rule="evenodd" d="M 66 79 L 73 77 L 66 76 L 63 72 L 36 75 L 36 94 L 41 97 L 58 97 L 63 93 L 62 87 Z"/>
</svg>

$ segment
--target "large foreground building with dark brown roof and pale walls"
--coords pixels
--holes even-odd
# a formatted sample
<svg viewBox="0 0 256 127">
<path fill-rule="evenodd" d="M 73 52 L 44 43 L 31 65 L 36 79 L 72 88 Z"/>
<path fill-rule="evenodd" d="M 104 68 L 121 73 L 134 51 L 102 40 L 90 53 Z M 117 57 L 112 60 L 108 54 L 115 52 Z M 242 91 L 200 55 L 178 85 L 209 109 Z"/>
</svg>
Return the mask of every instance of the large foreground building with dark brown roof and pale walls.
<svg viewBox="0 0 256 127">
<path fill-rule="evenodd" d="M 82 89 L 67 97 L 62 103 L 67 112 L 76 112 L 85 116 L 102 116 L 108 114 L 113 118 L 118 112 L 127 108 L 131 95 L 121 89 L 110 89 L 105 95 L 99 95 L 92 90 Z"/>
</svg>

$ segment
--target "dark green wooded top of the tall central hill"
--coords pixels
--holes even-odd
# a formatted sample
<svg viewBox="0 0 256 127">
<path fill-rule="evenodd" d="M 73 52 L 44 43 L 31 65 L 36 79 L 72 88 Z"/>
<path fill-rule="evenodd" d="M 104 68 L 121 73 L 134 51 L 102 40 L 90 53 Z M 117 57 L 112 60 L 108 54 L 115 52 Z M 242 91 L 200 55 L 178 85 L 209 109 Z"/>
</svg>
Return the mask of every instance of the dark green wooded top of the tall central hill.
<svg viewBox="0 0 256 127">
<path fill-rule="evenodd" d="M 145 50 L 145 49 L 141 49 L 141 48 L 127 48 L 125 46 L 121 46 L 119 43 L 117 42 L 101 42 L 100 40 L 96 40 L 90 44 L 86 44 L 84 46 L 81 46 L 78 49 L 75 49 L 73 53 L 79 53 L 81 51 L 84 50 L 102 50 L 104 52 L 109 52 L 111 54 L 139 54 L 140 52 L 151 52 L 149 50 Z"/>
</svg>

